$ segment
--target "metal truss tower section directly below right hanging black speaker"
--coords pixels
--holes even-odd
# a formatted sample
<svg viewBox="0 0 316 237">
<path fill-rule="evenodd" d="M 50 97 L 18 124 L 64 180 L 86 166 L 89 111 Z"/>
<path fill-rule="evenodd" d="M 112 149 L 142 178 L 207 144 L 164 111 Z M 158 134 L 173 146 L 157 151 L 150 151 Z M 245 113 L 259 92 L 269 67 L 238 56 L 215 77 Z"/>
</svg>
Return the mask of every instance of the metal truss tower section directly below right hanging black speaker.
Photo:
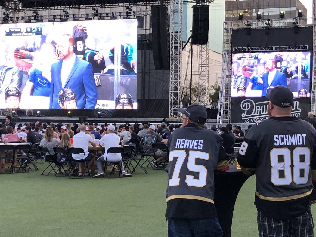
<svg viewBox="0 0 316 237">
<path fill-rule="evenodd" d="M 209 45 L 198 46 L 198 103 L 208 105 L 209 97 Z"/>
</svg>

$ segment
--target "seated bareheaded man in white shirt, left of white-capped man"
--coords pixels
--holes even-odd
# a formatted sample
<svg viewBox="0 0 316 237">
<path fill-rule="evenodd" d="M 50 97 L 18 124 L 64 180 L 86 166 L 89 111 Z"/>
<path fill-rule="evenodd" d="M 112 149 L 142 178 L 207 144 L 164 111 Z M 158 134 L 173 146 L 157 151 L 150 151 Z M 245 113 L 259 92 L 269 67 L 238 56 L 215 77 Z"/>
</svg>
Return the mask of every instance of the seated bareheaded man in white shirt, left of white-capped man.
<svg viewBox="0 0 316 237">
<path fill-rule="evenodd" d="M 79 126 L 80 132 L 77 133 L 74 136 L 74 147 L 82 148 L 84 150 L 84 155 L 86 156 L 86 160 L 88 161 L 88 169 L 90 168 L 90 165 L 92 163 L 92 154 L 89 153 L 88 145 L 89 143 L 95 147 L 95 142 L 92 140 L 92 137 L 89 134 L 86 134 L 86 125 L 82 124 Z M 85 161 L 84 160 L 84 155 L 83 154 L 72 154 L 72 158 L 76 161 Z M 82 166 L 84 166 L 83 163 L 79 164 L 79 176 L 83 175 L 83 169 Z M 87 168 L 85 169 L 84 173 L 87 175 L 88 170 Z"/>
</svg>

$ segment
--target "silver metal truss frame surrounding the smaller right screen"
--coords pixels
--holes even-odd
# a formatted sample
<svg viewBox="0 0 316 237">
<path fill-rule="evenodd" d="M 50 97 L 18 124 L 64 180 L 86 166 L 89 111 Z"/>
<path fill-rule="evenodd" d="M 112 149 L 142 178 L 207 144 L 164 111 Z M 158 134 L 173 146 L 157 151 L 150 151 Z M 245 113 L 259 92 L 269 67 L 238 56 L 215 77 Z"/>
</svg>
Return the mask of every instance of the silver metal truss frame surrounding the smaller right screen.
<svg viewBox="0 0 316 237">
<path fill-rule="evenodd" d="M 310 24 L 312 22 L 313 25 Z M 247 26 L 246 26 L 247 24 Z M 251 21 L 226 21 L 223 27 L 223 62 L 220 93 L 218 100 L 217 124 L 230 122 L 230 89 L 231 89 L 231 34 L 237 29 L 262 29 L 262 28 L 288 28 L 313 26 L 313 76 L 311 111 L 316 112 L 316 22 L 313 18 L 301 19 L 270 19 Z M 258 47 L 234 47 L 233 52 L 258 52 L 258 51 L 293 51 L 309 50 L 308 46 L 258 46 Z"/>
</svg>

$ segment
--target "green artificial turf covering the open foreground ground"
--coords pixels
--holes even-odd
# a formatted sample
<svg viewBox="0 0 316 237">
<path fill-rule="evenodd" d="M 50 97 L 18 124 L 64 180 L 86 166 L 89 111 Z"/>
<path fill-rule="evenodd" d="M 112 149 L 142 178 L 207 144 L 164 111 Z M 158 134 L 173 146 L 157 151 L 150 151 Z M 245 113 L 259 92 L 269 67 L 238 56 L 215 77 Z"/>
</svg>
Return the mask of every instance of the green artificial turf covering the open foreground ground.
<svg viewBox="0 0 316 237">
<path fill-rule="evenodd" d="M 0 174 L 0 236 L 167 236 L 164 171 L 68 179 L 40 175 L 46 165 L 31 173 Z M 240 191 L 232 237 L 258 236 L 254 188 L 251 177 Z"/>
</svg>

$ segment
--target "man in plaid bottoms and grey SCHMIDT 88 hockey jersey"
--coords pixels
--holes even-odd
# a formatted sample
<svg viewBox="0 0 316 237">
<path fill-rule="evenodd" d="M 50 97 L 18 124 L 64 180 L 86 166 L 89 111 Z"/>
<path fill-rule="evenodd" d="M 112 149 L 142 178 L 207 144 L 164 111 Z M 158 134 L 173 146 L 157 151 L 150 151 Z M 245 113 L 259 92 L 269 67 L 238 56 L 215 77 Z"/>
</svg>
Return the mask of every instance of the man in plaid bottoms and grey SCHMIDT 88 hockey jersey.
<svg viewBox="0 0 316 237">
<path fill-rule="evenodd" d="M 259 236 L 312 237 L 316 132 L 291 116 L 288 88 L 276 86 L 266 97 L 269 119 L 249 129 L 237 158 L 244 173 L 256 174 Z"/>
</svg>

